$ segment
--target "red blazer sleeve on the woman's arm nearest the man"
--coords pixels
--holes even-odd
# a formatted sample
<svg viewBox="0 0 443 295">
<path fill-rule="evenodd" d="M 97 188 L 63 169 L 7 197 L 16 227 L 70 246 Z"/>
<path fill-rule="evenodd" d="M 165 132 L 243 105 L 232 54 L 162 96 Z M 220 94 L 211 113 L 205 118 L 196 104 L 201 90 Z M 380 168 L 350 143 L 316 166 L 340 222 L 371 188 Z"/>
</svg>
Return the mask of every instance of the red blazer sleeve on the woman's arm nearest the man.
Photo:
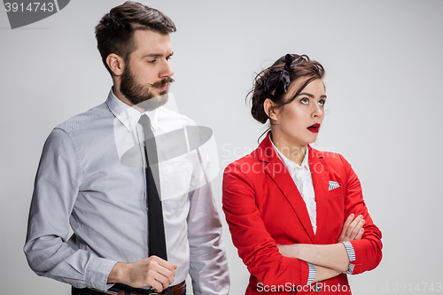
<svg viewBox="0 0 443 295">
<path fill-rule="evenodd" d="M 263 285 L 307 285 L 310 282 L 307 262 L 279 252 L 256 205 L 253 180 L 242 171 L 241 165 L 230 164 L 223 175 L 223 211 L 238 255 L 250 274 Z M 312 276 L 311 273 L 311 279 Z"/>
</svg>

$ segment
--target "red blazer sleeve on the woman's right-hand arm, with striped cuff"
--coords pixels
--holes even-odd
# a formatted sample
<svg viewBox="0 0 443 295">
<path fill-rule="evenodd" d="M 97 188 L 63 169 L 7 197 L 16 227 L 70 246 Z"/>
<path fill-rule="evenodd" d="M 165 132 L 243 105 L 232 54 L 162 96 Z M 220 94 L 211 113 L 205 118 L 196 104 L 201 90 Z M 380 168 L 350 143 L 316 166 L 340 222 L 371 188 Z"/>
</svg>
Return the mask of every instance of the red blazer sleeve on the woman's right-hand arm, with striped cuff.
<svg viewBox="0 0 443 295">
<path fill-rule="evenodd" d="M 340 159 L 345 166 L 347 179 L 345 216 L 349 216 L 351 213 L 354 213 L 355 216 L 361 214 L 365 220 L 363 225 L 364 233 L 361 239 L 349 242 L 354 249 L 354 261 L 351 262 L 352 266 L 349 270 L 353 275 L 358 275 L 367 270 L 377 268 L 382 260 L 382 233 L 372 221 L 368 208 L 364 203 L 360 180 L 346 159 L 341 155 Z"/>
</svg>

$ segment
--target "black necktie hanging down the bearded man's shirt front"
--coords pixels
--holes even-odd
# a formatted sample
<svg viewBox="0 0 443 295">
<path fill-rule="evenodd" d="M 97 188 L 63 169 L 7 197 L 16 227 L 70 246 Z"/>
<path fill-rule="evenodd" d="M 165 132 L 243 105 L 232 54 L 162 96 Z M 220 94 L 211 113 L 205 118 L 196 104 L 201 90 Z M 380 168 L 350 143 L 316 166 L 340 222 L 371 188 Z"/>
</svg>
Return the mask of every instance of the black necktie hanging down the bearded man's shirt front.
<svg viewBox="0 0 443 295">
<path fill-rule="evenodd" d="M 165 240 L 165 226 L 163 224 L 163 211 L 159 198 L 159 159 L 155 136 L 151 129 L 151 120 L 145 114 L 138 120 L 144 131 L 144 156 L 146 165 L 146 187 L 148 195 L 148 231 L 149 231 L 149 256 L 156 255 L 167 260 Z M 158 184 L 158 187 L 156 186 Z"/>
</svg>

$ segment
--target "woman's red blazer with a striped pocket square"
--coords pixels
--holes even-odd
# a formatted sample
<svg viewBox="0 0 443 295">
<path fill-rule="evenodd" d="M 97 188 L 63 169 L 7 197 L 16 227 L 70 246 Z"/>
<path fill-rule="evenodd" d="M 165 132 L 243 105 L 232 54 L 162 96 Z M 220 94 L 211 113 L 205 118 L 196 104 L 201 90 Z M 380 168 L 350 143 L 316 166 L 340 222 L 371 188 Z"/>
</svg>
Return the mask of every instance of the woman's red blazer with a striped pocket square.
<svg viewBox="0 0 443 295">
<path fill-rule="evenodd" d="M 305 202 L 268 136 L 250 155 L 224 171 L 223 211 L 232 242 L 251 273 L 246 294 L 266 294 L 272 288 L 278 290 L 272 294 L 317 294 L 306 286 L 307 263 L 282 256 L 276 245 L 335 244 L 351 213 L 362 214 L 366 221 L 361 240 L 351 242 L 354 274 L 376 268 L 382 259 L 381 232 L 369 216 L 351 165 L 338 153 L 309 147 L 309 167 L 315 190 L 316 234 Z M 329 190 L 330 181 L 340 186 Z M 321 292 L 351 293 L 345 274 L 321 283 Z"/>
</svg>

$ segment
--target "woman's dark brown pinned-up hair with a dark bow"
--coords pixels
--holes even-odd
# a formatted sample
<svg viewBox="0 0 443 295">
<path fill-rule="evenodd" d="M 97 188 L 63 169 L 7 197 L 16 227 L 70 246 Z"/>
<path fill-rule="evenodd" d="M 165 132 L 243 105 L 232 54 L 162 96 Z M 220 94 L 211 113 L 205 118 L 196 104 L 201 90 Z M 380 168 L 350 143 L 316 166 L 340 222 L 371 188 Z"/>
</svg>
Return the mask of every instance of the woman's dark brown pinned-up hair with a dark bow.
<svg viewBox="0 0 443 295">
<path fill-rule="evenodd" d="M 291 103 L 307 84 L 316 79 L 323 79 L 324 68 L 306 55 L 287 54 L 278 58 L 274 65 L 261 71 L 255 77 L 253 89 L 246 97 L 251 96 L 251 113 L 253 118 L 264 124 L 268 120 L 263 104 L 267 98 L 277 107 Z M 284 101 L 284 94 L 291 82 L 299 78 L 306 79 L 291 99 Z"/>
</svg>

